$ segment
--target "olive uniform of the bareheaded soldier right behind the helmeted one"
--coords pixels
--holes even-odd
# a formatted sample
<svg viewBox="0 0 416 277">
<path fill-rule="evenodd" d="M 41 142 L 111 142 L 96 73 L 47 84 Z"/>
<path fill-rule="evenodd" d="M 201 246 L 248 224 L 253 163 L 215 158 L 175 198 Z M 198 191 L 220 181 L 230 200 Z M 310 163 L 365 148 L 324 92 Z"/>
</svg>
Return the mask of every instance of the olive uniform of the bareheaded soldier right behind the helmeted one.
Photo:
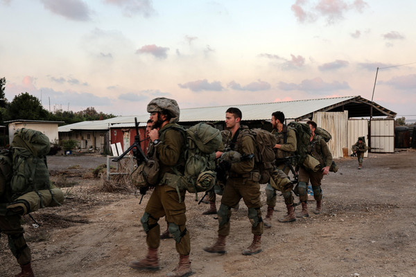
<svg viewBox="0 0 416 277">
<path fill-rule="evenodd" d="M 250 136 L 241 134 L 243 129 L 247 129 L 247 127 L 241 127 L 231 138 L 232 143 L 225 145 L 225 148 L 229 146 L 231 150 L 239 152 L 241 155 L 254 154 L 254 140 Z M 227 184 L 221 198 L 221 205 L 218 209 L 218 235 L 229 235 L 231 207 L 239 204 L 241 198 L 248 207 L 248 218 L 252 224 L 252 233 L 254 235 L 263 233 L 259 180 L 260 174 L 254 166 L 254 159 L 231 164 Z"/>
</svg>

